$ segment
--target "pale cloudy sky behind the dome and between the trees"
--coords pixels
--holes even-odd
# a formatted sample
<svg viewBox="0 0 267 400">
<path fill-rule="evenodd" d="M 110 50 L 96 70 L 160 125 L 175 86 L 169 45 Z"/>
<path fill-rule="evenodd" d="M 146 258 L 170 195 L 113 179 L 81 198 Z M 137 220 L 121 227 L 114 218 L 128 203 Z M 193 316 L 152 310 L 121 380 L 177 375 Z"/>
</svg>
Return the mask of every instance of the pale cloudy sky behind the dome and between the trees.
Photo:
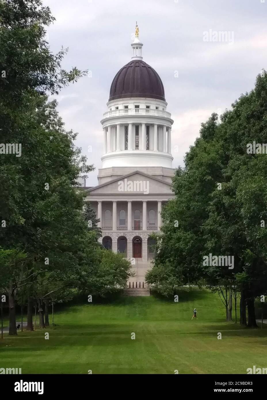
<svg viewBox="0 0 267 400">
<path fill-rule="evenodd" d="M 267 0 L 44 0 L 56 18 L 48 28 L 53 52 L 68 47 L 62 67 L 91 71 L 57 96 L 66 129 L 79 132 L 76 145 L 96 170 L 97 184 L 110 84 L 131 60 L 135 21 L 143 60 L 161 77 L 172 128 L 173 167 L 199 135 L 201 122 L 219 114 L 257 74 L 267 69 Z M 211 32 L 213 41 L 206 41 Z M 227 32 L 219 41 L 219 32 Z M 218 40 L 216 39 L 218 35 Z M 88 152 L 92 146 L 92 152 Z M 178 147 L 177 147 L 178 146 Z"/>
</svg>

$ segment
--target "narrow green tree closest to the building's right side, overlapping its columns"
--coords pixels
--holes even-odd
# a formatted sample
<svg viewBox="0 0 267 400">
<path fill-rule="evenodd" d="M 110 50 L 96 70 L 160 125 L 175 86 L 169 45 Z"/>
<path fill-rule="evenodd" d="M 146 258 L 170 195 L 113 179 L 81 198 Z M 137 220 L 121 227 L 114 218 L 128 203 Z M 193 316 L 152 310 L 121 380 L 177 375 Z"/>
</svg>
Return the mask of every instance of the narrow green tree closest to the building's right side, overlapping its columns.
<svg viewBox="0 0 267 400">
<path fill-rule="evenodd" d="M 177 168 L 173 178 L 175 199 L 170 200 L 162 210 L 163 226 L 161 244 L 155 254 L 155 263 L 150 276 L 168 267 L 169 276 L 181 285 L 197 284 L 203 278 L 203 254 L 205 238 L 203 222 L 208 217 L 210 194 L 216 182 L 221 179 L 221 148 L 211 138 L 217 129 L 217 116 L 213 114 L 202 124 L 201 137 L 185 156 L 185 168 Z M 203 184 L 204 182 L 204 184 Z M 153 276 L 156 281 L 156 276 Z M 160 274 L 162 282 L 164 274 Z M 177 283 L 178 283 L 177 282 Z"/>
</svg>

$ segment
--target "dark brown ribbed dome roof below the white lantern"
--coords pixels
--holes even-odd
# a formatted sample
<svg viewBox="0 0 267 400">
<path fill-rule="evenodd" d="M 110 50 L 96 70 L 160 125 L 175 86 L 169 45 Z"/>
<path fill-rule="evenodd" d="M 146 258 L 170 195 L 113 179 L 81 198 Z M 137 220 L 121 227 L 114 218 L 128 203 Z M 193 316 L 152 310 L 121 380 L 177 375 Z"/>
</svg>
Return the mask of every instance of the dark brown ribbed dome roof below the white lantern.
<svg viewBox="0 0 267 400">
<path fill-rule="evenodd" d="M 159 75 L 146 62 L 133 60 L 117 72 L 110 86 L 110 100 L 148 97 L 165 101 Z"/>
</svg>

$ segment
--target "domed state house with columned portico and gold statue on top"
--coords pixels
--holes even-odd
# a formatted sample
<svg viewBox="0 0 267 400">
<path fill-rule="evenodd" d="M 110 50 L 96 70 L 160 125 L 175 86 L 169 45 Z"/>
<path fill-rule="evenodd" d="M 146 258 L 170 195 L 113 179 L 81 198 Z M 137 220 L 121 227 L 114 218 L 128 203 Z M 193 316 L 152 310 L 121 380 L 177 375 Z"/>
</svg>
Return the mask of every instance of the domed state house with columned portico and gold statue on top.
<svg viewBox="0 0 267 400">
<path fill-rule="evenodd" d="M 149 234 L 159 231 L 161 208 L 174 194 L 171 125 L 164 87 L 157 72 L 142 57 L 136 26 L 132 60 L 115 75 L 104 131 L 98 186 L 86 200 L 100 218 L 104 247 L 132 261 L 135 277 L 144 282 L 153 259 Z"/>
</svg>

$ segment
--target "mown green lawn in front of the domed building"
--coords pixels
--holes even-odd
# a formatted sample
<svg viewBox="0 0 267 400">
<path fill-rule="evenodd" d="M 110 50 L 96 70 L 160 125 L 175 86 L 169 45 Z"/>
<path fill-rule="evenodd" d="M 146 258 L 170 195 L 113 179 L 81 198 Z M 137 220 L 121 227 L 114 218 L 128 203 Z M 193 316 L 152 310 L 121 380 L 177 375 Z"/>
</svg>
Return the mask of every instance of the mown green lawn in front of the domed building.
<svg viewBox="0 0 267 400">
<path fill-rule="evenodd" d="M 191 320 L 194 307 L 198 320 Z M 216 294 L 197 289 L 180 292 L 178 303 L 151 296 L 72 306 L 55 315 L 56 330 L 5 334 L 0 368 L 21 367 L 22 374 L 246 374 L 253 365 L 266 368 L 267 329 L 242 329 L 225 322 L 224 312 Z"/>
</svg>

